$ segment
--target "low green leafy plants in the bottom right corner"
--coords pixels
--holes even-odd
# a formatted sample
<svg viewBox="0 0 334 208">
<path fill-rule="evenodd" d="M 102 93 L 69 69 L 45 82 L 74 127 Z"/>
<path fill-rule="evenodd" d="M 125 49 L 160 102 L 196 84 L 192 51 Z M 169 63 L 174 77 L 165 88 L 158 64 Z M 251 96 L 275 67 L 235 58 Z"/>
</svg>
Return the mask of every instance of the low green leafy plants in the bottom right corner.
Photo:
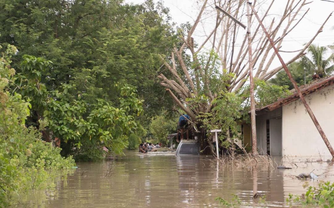
<svg viewBox="0 0 334 208">
<path fill-rule="evenodd" d="M 294 196 L 289 194 L 287 202 L 290 205 L 302 204 L 303 206 L 314 207 L 334 207 L 334 183 L 320 182 L 318 187 L 310 186 L 308 183 L 304 185 L 307 189 L 302 196 Z"/>
</svg>

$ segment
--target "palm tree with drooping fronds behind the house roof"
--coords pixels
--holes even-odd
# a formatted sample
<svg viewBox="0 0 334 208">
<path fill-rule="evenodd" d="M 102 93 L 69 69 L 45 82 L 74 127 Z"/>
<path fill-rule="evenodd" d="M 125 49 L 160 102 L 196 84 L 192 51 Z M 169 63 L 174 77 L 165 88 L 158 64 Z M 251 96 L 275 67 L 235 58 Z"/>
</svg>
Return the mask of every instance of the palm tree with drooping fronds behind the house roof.
<svg viewBox="0 0 334 208">
<path fill-rule="evenodd" d="M 334 54 L 332 53 L 327 59 L 324 59 L 324 54 L 328 50 L 325 46 L 311 45 L 308 53 L 311 59 L 303 56 L 300 61 L 300 70 L 306 70 L 309 73 L 316 73 L 319 77 L 330 75 L 334 71 Z"/>
</svg>

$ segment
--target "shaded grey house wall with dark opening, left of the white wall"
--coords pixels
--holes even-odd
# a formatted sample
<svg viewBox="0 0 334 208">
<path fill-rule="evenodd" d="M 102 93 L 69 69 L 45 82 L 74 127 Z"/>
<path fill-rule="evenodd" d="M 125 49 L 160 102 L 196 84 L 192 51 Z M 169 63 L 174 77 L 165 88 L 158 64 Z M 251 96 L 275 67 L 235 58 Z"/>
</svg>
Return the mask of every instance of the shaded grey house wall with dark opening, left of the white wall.
<svg viewBox="0 0 334 208">
<path fill-rule="evenodd" d="M 275 121 L 270 122 L 270 151 L 271 155 L 280 155 L 280 149 L 282 149 L 281 145 L 279 145 L 282 143 L 282 136 L 280 134 L 280 131 L 282 131 L 281 117 L 282 108 L 278 108 L 276 110 L 265 112 L 264 114 L 259 114 L 256 116 L 256 134 L 259 154 L 267 154 L 267 119 L 276 119 Z M 274 154 L 272 154 L 272 152 Z"/>
</svg>

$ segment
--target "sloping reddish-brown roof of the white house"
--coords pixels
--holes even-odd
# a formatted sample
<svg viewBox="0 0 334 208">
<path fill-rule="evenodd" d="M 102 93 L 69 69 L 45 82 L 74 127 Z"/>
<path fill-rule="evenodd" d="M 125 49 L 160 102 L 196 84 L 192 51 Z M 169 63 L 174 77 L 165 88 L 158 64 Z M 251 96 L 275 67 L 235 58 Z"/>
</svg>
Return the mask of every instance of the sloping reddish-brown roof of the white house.
<svg viewBox="0 0 334 208">
<path fill-rule="evenodd" d="M 323 89 L 327 86 L 330 86 L 334 83 L 334 76 L 328 77 L 328 78 L 324 78 L 322 80 L 318 80 L 315 83 L 311 83 L 309 85 L 304 85 L 301 86 L 299 89 L 301 90 L 302 94 L 305 95 L 309 95 L 317 90 Z M 256 111 L 272 111 L 275 110 L 283 105 L 289 104 L 297 99 L 299 99 L 298 94 L 296 93 L 295 90 L 292 90 L 292 92 L 294 92 L 293 95 L 288 96 L 286 98 L 282 98 L 278 101 L 276 101 L 275 103 L 266 105 L 262 108 L 258 108 L 256 109 Z"/>
</svg>

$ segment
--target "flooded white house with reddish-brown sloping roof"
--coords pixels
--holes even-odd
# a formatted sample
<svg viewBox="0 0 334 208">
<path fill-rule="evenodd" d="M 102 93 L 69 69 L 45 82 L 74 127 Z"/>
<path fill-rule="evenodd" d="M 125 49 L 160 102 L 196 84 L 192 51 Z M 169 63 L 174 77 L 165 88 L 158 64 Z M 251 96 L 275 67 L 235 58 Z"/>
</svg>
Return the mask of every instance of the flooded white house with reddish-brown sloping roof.
<svg viewBox="0 0 334 208">
<path fill-rule="evenodd" d="M 334 76 L 301 86 L 313 113 L 334 146 Z M 256 110 L 258 151 L 268 155 L 316 156 L 330 152 L 295 92 Z M 249 126 L 243 125 L 243 143 L 250 142 Z"/>
</svg>

